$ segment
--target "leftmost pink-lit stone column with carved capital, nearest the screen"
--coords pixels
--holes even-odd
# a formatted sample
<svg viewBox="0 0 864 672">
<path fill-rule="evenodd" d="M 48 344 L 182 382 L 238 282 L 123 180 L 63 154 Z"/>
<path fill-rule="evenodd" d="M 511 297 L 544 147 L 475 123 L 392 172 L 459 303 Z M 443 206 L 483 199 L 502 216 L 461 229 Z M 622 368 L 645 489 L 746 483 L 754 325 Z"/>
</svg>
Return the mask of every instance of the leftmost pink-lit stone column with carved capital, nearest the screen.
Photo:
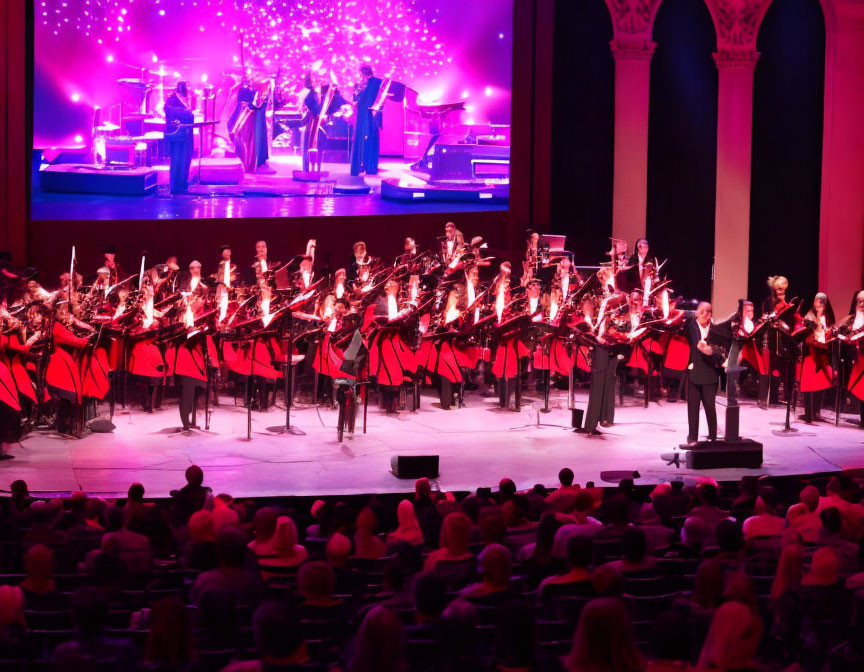
<svg viewBox="0 0 864 672">
<path fill-rule="evenodd" d="M 633 245 L 645 236 L 648 201 L 650 40 L 613 40 L 615 58 L 615 173 L 612 235 Z"/>
</svg>

